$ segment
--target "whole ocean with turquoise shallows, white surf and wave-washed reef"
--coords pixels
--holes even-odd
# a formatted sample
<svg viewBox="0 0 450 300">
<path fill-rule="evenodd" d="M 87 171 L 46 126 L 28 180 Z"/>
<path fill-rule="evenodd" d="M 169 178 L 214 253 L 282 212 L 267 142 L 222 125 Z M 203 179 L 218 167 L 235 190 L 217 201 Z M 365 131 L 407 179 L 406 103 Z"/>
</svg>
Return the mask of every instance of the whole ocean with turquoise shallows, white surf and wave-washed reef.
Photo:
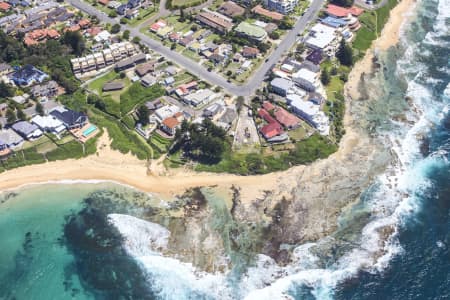
<svg viewBox="0 0 450 300">
<path fill-rule="evenodd" d="M 396 159 L 289 265 L 211 189 L 166 203 L 111 183 L 29 186 L 0 194 L 0 299 L 450 299 L 448 7 L 418 1 L 366 82 L 367 128 Z"/>
</svg>

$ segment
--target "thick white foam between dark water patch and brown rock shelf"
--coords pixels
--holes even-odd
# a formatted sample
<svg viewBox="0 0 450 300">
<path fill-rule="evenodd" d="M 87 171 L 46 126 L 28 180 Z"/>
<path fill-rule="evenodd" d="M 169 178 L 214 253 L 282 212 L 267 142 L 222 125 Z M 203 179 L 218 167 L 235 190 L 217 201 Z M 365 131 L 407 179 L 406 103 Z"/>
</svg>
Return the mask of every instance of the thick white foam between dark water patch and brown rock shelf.
<svg viewBox="0 0 450 300">
<path fill-rule="evenodd" d="M 202 272 L 192 264 L 161 254 L 170 237 L 166 228 L 121 214 L 110 214 L 108 220 L 123 236 L 125 250 L 142 266 L 161 299 L 195 299 L 196 295 L 231 299 L 224 274 Z"/>
</svg>

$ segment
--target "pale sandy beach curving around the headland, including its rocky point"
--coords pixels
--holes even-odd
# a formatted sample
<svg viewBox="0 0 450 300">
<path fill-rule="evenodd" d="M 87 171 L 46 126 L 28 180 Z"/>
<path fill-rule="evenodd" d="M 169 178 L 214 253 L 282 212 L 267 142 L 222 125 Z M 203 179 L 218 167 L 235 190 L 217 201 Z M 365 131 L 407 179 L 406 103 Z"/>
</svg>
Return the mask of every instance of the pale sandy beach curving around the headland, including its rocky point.
<svg viewBox="0 0 450 300">
<path fill-rule="evenodd" d="M 240 189 L 240 200 L 244 204 L 261 198 L 265 191 L 273 192 L 273 201 L 268 206 L 273 206 L 283 197 L 302 201 L 302 205 L 310 212 L 304 220 L 304 230 L 310 230 L 312 236 L 306 234 L 306 237 L 313 238 L 318 234 L 315 226 L 327 232 L 335 226 L 335 222 L 329 221 L 333 221 L 343 207 L 359 196 L 361 189 L 376 173 L 373 170 L 376 169 L 373 157 L 378 149 L 354 124 L 352 99 L 359 97 L 358 86 L 362 74 L 372 69 L 374 49 L 385 50 L 398 42 L 403 16 L 413 3 L 412 0 L 403 0 L 391 11 L 390 20 L 381 37 L 350 73 L 346 84 L 346 134 L 339 150 L 328 159 L 262 176 L 196 173 L 185 169 L 164 170 L 161 165 L 152 163 L 149 168 L 145 161 L 111 150 L 109 137 L 104 134 L 99 139 L 96 155 L 79 160 L 26 166 L 0 174 L 0 191 L 31 183 L 61 180 L 110 180 L 167 196 L 181 194 L 186 189 L 197 186 L 229 188 L 234 185 Z M 325 216 L 323 207 L 327 207 Z"/>
</svg>

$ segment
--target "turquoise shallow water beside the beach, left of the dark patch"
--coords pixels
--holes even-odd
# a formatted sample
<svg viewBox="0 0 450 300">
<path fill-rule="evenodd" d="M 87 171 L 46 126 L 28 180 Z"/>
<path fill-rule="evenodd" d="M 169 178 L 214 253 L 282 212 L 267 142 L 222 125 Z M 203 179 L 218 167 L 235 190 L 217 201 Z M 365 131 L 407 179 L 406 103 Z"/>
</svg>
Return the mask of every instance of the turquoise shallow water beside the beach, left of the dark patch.
<svg viewBox="0 0 450 300">
<path fill-rule="evenodd" d="M 65 217 L 97 185 L 41 185 L 0 205 L 0 299 L 91 299 L 61 243 Z"/>
</svg>

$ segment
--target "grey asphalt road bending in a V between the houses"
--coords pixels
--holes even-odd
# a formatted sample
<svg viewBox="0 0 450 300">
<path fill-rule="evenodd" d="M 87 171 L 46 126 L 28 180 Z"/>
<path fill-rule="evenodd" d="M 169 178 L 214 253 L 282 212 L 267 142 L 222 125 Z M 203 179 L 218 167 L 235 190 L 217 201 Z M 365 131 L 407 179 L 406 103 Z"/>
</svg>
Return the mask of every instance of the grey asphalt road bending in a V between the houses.
<svg viewBox="0 0 450 300">
<path fill-rule="evenodd" d="M 98 11 L 95 7 L 81 0 L 67 0 L 67 2 L 89 15 L 97 16 L 102 22 L 111 24 L 118 23 L 117 19 L 109 18 L 105 13 Z M 131 37 L 139 37 L 141 39 L 141 42 L 153 51 L 160 53 L 167 60 L 180 65 L 193 75 L 211 83 L 212 85 L 218 85 L 232 95 L 249 96 L 253 95 L 255 90 L 261 85 L 266 74 L 272 68 L 272 66 L 275 65 L 279 61 L 281 56 L 287 53 L 287 51 L 289 51 L 289 49 L 294 45 L 297 39 L 297 35 L 301 34 L 306 29 L 308 24 L 316 19 L 319 10 L 321 9 L 324 2 L 325 0 L 314 0 L 311 3 L 305 14 L 297 20 L 294 28 L 288 32 L 283 41 L 268 57 L 266 62 L 264 62 L 259 67 L 259 69 L 253 71 L 253 76 L 244 85 L 232 84 L 221 75 L 213 71 L 209 72 L 193 60 L 190 60 L 189 58 L 170 50 L 169 48 L 163 46 L 160 42 L 157 42 L 147 35 L 142 34 L 139 31 L 139 28 L 122 25 L 122 30 L 128 29 L 130 31 Z"/>
</svg>

